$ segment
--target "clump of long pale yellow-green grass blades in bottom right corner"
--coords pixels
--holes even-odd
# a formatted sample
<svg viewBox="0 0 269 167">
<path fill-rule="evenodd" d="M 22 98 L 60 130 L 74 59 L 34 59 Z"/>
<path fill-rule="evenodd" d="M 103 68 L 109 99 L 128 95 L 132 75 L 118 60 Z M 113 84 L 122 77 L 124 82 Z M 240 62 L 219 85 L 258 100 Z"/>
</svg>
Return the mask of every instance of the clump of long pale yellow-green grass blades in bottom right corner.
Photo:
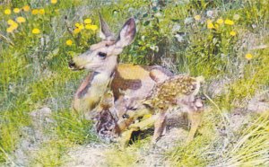
<svg viewBox="0 0 269 167">
<path fill-rule="evenodd" d="M 268 113 L 261 115 L 241 130 L 218 162 L 219 166 L 266 166 L 269 163 Z"/>
</svg>

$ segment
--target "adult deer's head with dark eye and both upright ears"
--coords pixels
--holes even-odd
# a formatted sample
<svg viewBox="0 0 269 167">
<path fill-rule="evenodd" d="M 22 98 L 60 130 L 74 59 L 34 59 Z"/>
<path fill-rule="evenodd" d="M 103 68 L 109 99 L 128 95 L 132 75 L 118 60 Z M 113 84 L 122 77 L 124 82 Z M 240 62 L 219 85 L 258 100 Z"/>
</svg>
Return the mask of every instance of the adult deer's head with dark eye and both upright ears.
<svg viewBox="0 0 269 167">
<path fill-rule="evenodd" d="M 74 70 L 88 69 L 99 73 L 111 73 L 117 66 L 117 55 L 134 40 L 135 32 L 134 18 L 130 18 L 115 39 L 109 31 L 108 24 L 100 15 L 100 37 L 102 40 L 91 45 L 90 49 L 82 55 L 74 57 L 69 62 L 69 67 Z"/>
</svg>

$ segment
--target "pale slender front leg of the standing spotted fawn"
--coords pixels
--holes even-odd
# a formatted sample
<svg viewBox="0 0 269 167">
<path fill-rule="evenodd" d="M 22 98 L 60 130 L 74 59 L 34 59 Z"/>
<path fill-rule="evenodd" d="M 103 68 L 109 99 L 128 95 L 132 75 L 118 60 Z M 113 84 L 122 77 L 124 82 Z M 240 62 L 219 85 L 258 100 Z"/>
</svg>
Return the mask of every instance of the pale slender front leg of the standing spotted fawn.
<svg viewBox="0 0 269 167">
<path fill-rule="evenodd" d="M 165 127 L 166 127 L 166 113 L 161 112 L 159 114 L 158 119 L 156 119 L 156 121 L 154 123 L 154 135 L 152 138 L 152 144 L 155 144 L 157 142 L 157 140 L 162 135 Z"/>
</svg>

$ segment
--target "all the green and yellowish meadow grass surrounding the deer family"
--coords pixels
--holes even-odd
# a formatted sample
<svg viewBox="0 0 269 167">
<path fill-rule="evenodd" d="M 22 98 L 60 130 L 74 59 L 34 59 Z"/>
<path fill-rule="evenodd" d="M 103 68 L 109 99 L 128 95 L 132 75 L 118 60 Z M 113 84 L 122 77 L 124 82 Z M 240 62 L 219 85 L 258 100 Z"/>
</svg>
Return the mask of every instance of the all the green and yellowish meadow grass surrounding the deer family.
<svg viewBox="0 0 269 167">
<path fill-rule="evenodd" d="M 4 13 L 6 9 L 13 11 L 25 5 L 30 6 L 29 12 Z M 47 139 L 36 145 L 36 152 L 30 152 L 30 163 L 17 165 L 64 165 L 69 148 L 98 141 L 91 121 L 77 118 L 71 110 L 75 89 L 86 72 L 71 72 L 67 62 L 100 40 L 96 30 L 74 33 L 75 23 L 82 26 L 86 18 L 98 25 L 100 11 L 115 32 L 130 16 L 139 21 L 134 43 L 124 50 L 121 62 L 158 64 L 175 73 L 204 75 L 205 90 L 212 89 L 211 83 L 216 78 L 230 81 L 221 85 L 221 94 L 212 97 L 214 104 L 207 103 L 210 109 L 206 112 L 202 135 L 196 136 L 190 145 L 179 143 L 164 153 L 172 165 L 263 166 L 268 163 L 265 154 L 268 115 L 250 115 L 247 125 L 241 125 L 239 131 L 229 131 L 230 136 L 214 134 L 221 127 L 230 129 L 234 110 L 247 110 L 247 102 L 256 93 L 268 90 L 268 8 L 266 0 L 164 4 L 132 0 L 66 0 L 56 4 L 14 0 L 0 4 L 0 164 L 17 164 L 19 157 L 13 153 L 30 136 L 25 136 L 23 130 L 34 128 L 35 120 L 30 113 L 43 107 L 52 110 L 54 120 L 43 127 Z M 34 15 L 33 9 L 44 9 L 45 13 Z M 196 15 L 200 19 L 195 20 Z M 15 22 L 18 16 L 26 22 L 17 22 L 17 27 L 14 23 L 8 25 L 8 20 Z M 218 19 L 229 19 L 234 24 L 218 23 Z M 11 26 L 13 32 L 7 32 Z M 32 33 L 35 28 L 39 34 Z M 236 35 L 230 35 L 230 31 Z M 66 45 L 66 40 L 72 40 L 72 45 Z M 252 57 L 247 59 L 247 53 Z M 223 145 L 227 140 L 230 142 Z M 143 139 L 126 150 L 115 148 L 108 153 L 106 161 L 112 166 L 135 166 L 141 159 L 140 151 L 149 149 L 148 143 L 148 139 Z"/>
</svg>

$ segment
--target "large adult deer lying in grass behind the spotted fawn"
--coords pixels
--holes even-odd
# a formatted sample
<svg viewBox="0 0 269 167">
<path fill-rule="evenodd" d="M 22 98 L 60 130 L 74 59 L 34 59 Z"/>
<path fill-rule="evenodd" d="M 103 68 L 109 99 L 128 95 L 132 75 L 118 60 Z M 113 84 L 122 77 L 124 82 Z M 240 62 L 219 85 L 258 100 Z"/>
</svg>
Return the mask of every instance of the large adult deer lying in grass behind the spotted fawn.
<svg viewBox="0 0 269 167">
<path fill-rule="evenodd" d="M 127 92 L 129 99 L 143 99 L 151 92 L 156 81 L 164 80 L 172 75 L 161 66 L 137 66 L 132 64 L 118 64 L 118 55 L 129 45 L 135 36 L 135 22 L 133 18 L 126 21 L 117 38 L 109 31 L 108 24 L 100 16 L 100 34 L 102 40 L 91 45 L 91 48 L 69 62 L 74 70 L 87 69 L 90 75 L 84 79 L 74 95 L 73 108 L 80 114 L 91 112 L 100 102 L 100 97 L 106 92 L 108 84 L 118 101 L 122 105 L 123 94 Z M 112 81 L 111 81 L 112 80 Z M 119 102 L 122 101 L 122 102 Z M 118 109 L 121 110 L 121 109 Z M 121 117 L 120 112 L 117 113 Z"/>
</svg>

